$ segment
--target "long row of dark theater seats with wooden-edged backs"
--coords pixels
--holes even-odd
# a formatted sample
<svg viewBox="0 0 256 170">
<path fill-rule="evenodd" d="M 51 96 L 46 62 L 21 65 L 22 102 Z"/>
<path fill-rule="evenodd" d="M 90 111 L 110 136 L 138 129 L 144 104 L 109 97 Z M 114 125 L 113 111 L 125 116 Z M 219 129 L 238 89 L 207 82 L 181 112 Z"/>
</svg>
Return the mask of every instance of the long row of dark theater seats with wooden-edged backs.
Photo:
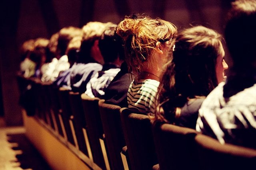
<svg viewBox="0 0 256 170">
<path fill-rule="evenodd" d="M 28 115 L 52 128 L 103 170 L 256 169 L 256 150 L 221 145 L 194 129 L 153 123 L 99 98 L 17 77 Z M 31 103 L 29 103 L 31 102 Z"/>
</svg>

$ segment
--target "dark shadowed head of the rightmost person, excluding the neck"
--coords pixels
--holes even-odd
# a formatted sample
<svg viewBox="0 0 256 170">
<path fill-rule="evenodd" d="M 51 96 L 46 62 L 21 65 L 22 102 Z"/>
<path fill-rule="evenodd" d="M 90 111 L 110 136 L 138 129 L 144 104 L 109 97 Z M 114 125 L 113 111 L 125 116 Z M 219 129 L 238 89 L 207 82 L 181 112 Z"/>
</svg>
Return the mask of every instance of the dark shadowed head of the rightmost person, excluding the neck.
<svg viewBox="0 0 256 170">
<path fill-rule="evenodd" d="M 256 60 L 256 1 L 236 0 L 228 13 L 225 39 L 235 67 Z"/>
</svg>

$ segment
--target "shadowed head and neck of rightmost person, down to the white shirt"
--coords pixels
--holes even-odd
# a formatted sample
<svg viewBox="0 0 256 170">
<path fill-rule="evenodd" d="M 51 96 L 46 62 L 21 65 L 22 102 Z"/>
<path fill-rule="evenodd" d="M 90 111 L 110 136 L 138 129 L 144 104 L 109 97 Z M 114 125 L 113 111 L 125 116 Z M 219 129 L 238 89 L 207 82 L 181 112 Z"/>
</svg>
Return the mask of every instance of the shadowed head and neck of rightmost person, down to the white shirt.
<svg viewBox="0 0 256 170">
<path fill-rule="evenodd" d="M 233 59 L 233 67 L 223 87 L 224 98 L 229 98 L 255 84 L 256 0 L 236 0 L 232 3 L 225 38 Z"/>
</svg>

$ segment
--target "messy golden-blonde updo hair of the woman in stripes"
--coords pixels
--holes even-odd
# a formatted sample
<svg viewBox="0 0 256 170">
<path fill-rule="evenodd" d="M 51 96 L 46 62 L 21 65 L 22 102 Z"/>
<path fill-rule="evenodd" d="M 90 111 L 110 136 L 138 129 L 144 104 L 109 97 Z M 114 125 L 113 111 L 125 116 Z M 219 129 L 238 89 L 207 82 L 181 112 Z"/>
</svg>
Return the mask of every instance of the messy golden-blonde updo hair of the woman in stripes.
<svg viewBox="0 0 256 170">
<path fill-rule="evenodd" d="M 142 63 L 149 60 L 156 49 L 156 43 L 171 40 L 178 31 L 174 24 L 159 18 L 126 16 L 118 24 L 116 33 L 124 39 L 129 71 L 138 74 L 142 71 Z"/>
</svg>

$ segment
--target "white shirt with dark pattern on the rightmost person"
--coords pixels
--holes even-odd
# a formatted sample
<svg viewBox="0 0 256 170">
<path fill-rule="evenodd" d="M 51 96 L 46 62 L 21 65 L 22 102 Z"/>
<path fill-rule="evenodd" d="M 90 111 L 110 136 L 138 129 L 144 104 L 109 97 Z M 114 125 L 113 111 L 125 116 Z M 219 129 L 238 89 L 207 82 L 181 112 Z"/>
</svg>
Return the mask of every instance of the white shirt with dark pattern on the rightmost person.
<svg viewBox="0 0 256 170">
<path fill-rule="evenodd" d="M 222 144 L 246 146 L 256 140 L 256 84 L 226 99 L 224 84 L 221 82 L 202 103 L 196 130 Z M 256 148 L 256 143 L 253 145 L 249 147 Z"/>
</svg>

